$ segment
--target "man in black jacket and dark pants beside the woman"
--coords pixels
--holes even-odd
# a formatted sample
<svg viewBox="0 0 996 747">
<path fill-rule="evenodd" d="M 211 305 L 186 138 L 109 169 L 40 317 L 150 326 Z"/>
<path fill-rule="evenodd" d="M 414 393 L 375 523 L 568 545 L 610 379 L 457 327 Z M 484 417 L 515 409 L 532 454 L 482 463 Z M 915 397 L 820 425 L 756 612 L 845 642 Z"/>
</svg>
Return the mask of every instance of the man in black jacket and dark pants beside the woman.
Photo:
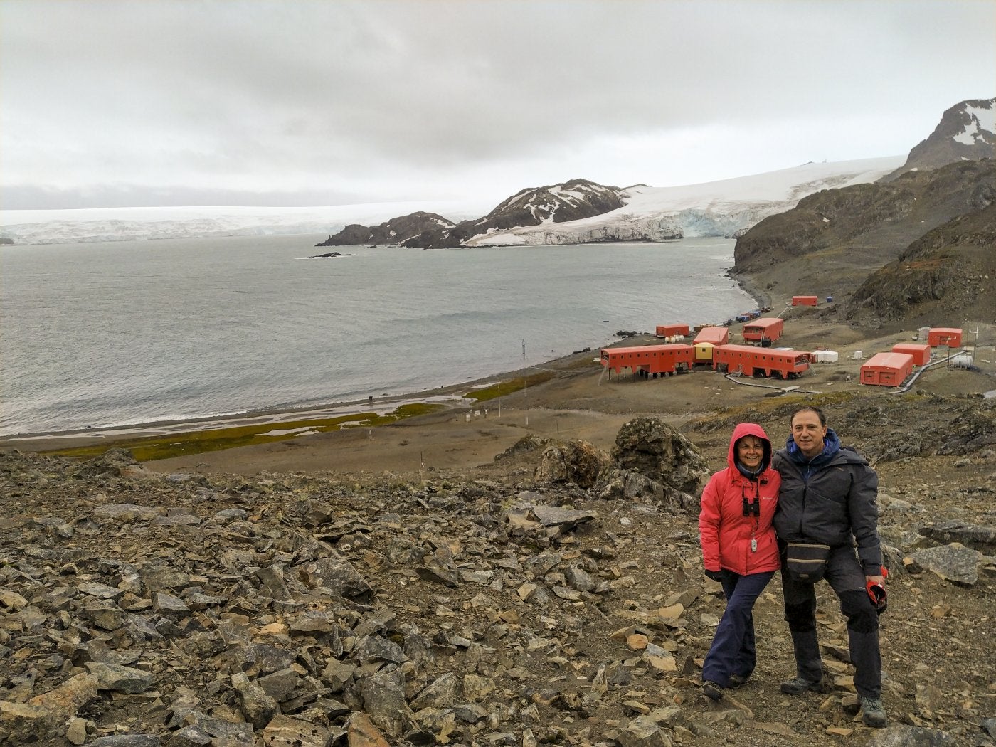
<svg viewBox="0 0 996 747">
<path fill-rule="evenodd" d="M 869 726 L 884 726 L 878 613 L 867 586 L 883 582 L 875 506 L 878 476 L 856 451 L 841 448 L 840 439 L 827 427 L 827 418 L 819 407 L 797 408 L 790 422 L 792 435 L 772 460 L 772 466 L 782 476 L 774 523 L 782 549 L 785 620 L 792 631 L 796 654 L 796 677 L 782 683 L 782 692 L 802 695 L 809 690 L 819 691 L 823 681 L 816 589 L 814 584 L 794 579 L 788 573 L 786 547 L 790 542 L 829 545 L 824 578 L 840 599 L 841 612 L 848 619 L 862 717 Z"/>
</svg>

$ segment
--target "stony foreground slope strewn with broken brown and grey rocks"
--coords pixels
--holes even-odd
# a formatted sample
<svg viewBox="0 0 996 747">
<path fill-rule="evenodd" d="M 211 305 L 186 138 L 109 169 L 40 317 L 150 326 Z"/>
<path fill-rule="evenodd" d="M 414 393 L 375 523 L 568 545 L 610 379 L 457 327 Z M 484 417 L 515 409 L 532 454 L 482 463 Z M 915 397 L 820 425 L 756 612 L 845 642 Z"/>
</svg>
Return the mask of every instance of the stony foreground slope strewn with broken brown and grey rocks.
<svg viewBox="0 0 996 747">
<path fill-rule="evenodd" d="M 726 381 L 697 375 L 680 385 Z M 826 692 L 779 691 L 794 668 L 777 577 L 753 678 L 701 694 L 724 605 L 696 481 L 734 422 L 780 442 L 792 407 L 738 390 L 677 425 L 603 414 L 601 441 L 510 428 L 460 468 L 238 475 L 7 450 L 0 744 L 996 744 L 996 411 L 870 388 L 821 401 L 881 477 L 884 730 L 856 716 L 828 588 Z"/>
</svg>

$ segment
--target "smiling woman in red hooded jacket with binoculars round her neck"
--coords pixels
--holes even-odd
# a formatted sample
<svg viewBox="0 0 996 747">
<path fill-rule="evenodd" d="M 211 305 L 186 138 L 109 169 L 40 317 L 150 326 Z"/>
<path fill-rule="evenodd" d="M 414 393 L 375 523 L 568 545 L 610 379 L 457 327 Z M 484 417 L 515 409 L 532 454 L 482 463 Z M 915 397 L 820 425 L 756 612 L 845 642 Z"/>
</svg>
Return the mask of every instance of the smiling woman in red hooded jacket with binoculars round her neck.
<svg viewBox="0 0 996 747">
<path fill-rule="evenodd" d="M 739 687 L 757 663 L 754 602 L 779 569 L 771 526 L 781 478 L 771 468 L 771 441 L 757 423 L 733 429 L 729 465 L 702 491 L 698 531 L 705 575 L 723 585 L 726 612 L 702 664 L 702 692 L 721 700 Z"/>
</svg>

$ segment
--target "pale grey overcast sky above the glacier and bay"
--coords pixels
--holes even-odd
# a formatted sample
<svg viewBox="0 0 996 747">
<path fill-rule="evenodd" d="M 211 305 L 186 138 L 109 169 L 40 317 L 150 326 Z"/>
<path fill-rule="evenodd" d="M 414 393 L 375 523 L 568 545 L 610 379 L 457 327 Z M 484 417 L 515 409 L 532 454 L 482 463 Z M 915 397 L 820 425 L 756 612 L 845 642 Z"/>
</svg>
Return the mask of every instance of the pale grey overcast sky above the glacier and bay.
<svg viewBox="0 0 996 747">
<path fill-rule="evenodd" d="M 689 184 L 993 96 L 996 0 L 0 0 L 0 207 Z"/>
</svg>

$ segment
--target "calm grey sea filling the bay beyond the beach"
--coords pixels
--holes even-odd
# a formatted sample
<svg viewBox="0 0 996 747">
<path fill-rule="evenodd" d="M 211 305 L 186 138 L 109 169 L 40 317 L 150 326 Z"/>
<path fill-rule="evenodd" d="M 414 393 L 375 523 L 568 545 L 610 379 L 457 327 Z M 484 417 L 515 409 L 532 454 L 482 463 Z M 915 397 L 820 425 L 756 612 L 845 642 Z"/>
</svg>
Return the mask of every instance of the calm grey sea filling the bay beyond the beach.
<svg viewBox="0 0 996 747">
<path fill-rule="evenodd" d="M 0 434 L 415 393 L 753 308 L 728 239 L 308 259 L 323 238 L 0 248 Z"/>
</svg>

